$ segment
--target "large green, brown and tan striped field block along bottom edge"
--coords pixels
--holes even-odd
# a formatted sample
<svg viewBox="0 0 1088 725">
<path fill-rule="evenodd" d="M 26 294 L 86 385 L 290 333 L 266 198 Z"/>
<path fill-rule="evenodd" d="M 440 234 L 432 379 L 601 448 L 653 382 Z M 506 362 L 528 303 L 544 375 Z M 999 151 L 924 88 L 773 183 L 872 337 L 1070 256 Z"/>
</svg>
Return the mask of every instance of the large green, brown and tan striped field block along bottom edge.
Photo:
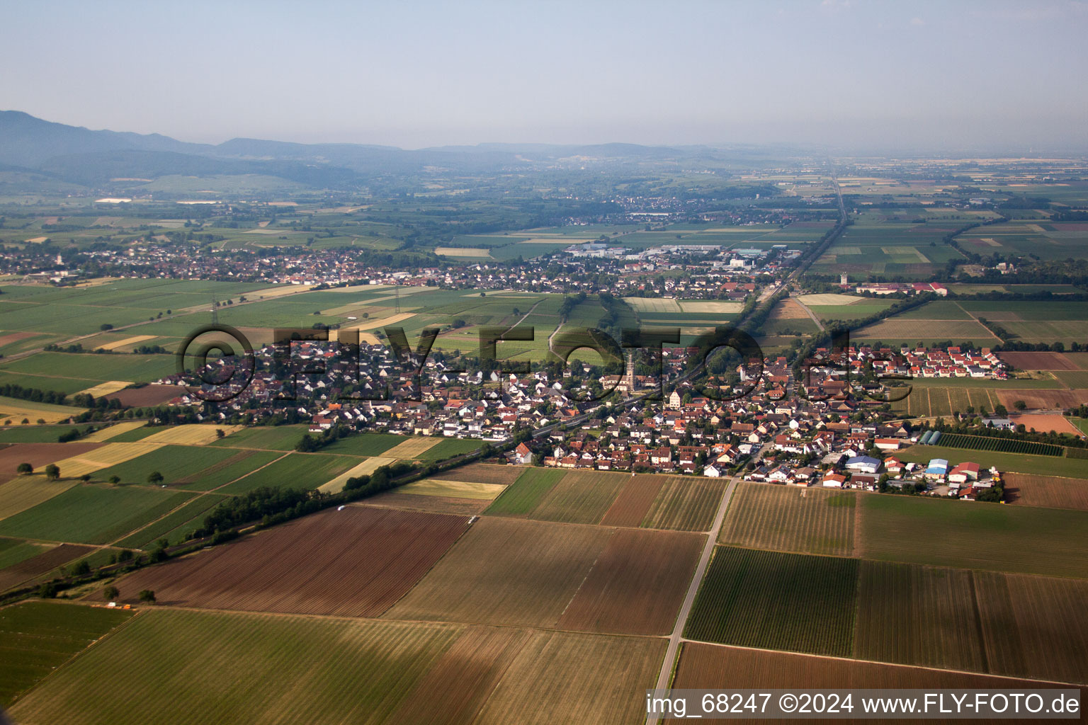
<svg viewBox="0 0 1088 725">
<path fill-rule="evenodd" d="M 21 698 L 12 715 L 74 725 L 604 725 L 642 712 L 664 649 L 632 637 L 152 609 Z M 299 673 L 302 661 L 311 666 Z M 138 700 L 101 686 L 116 672 L 133 673 Z M 178 700 L 189 687 L 193 695 Z"/>
</svg>

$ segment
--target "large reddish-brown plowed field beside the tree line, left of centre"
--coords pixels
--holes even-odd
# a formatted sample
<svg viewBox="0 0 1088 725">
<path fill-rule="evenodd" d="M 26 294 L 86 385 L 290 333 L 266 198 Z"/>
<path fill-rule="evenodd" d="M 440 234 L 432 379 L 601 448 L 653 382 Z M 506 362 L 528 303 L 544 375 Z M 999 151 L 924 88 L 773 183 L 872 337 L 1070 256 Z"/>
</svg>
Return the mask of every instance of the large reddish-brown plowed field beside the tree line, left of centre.
<svg viewBox="0 0 1088 725">
<path fill-rule="evenodd" d="M 347 507 L 153 566 L 118 586 L 133 600 L 252 612 L 378 616 L 457 540 L 463 516 Z"/>
</svg>

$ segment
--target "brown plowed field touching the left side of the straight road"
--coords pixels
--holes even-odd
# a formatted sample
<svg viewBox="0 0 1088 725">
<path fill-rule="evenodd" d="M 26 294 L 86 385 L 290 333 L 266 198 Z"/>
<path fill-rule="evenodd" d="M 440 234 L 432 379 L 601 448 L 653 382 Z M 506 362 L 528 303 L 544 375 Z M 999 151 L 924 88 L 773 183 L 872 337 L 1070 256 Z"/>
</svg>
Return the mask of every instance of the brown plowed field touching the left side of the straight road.
<svg viewBox="0 0 1088 725">
<path fill-rule="evenodd" d="M 681 532 L 616 529 L 556 626 L 626 635 L 670 633 L 704 540 Z"/>
</svg>

